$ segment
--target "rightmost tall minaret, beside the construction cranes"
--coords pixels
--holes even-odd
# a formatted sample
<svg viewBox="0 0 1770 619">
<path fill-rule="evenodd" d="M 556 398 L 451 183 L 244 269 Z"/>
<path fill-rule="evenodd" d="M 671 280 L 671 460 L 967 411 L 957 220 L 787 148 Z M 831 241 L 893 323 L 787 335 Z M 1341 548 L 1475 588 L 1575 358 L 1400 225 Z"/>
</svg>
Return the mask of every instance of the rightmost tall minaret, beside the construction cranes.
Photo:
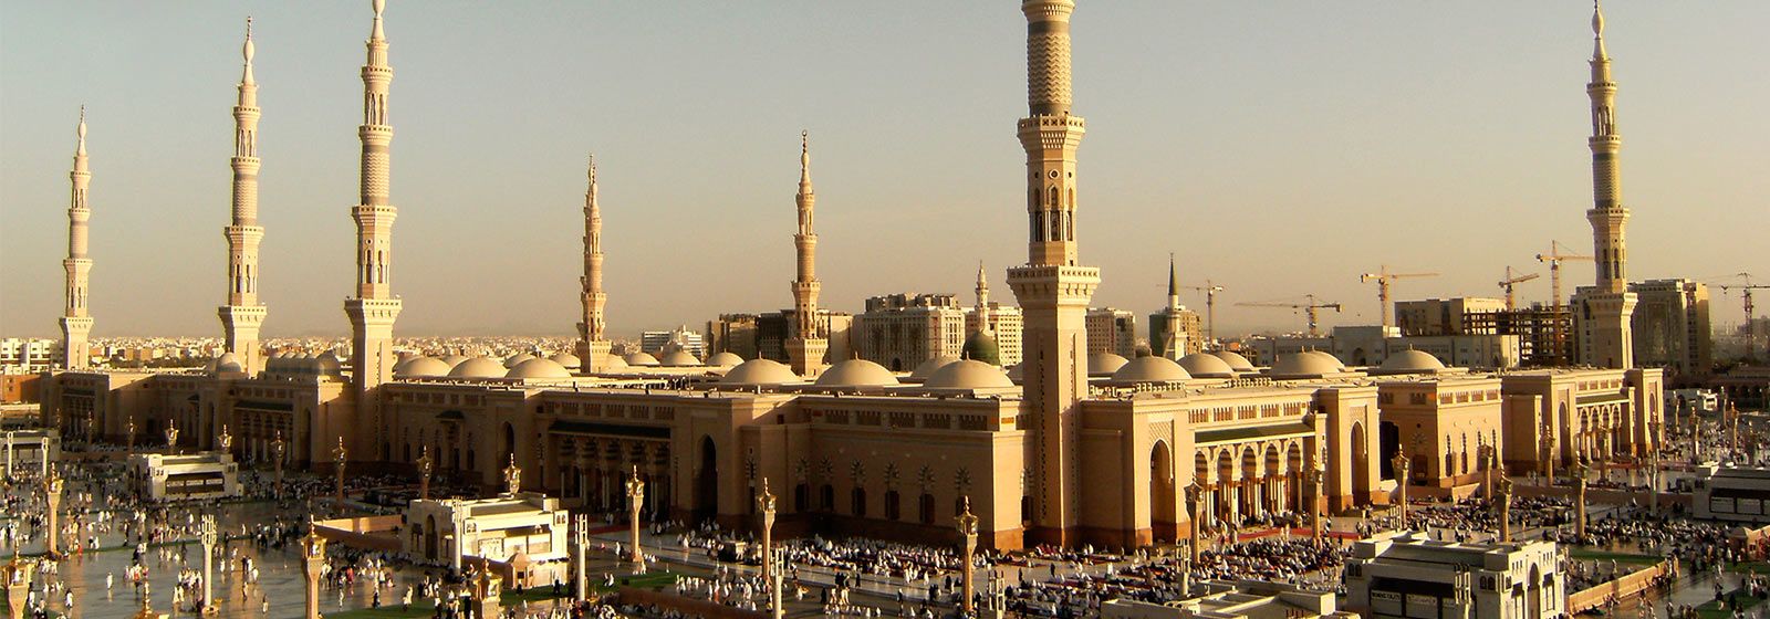
<svg viewBox="0 0 1770 619">
<path fill-rule="evenodd" d="M 1586 210 L 1586 219 L 1591 221 L 1598 278 L 1593 288 L 1581 294 L 1586 311 L 1575 313 L 1579 320 L 1591 322 L 1581 329 L 1589 341 L 1581 347 L 1581 361 L 1602 368 L 1632 368 L 1634 336 L 1628 322 L 1635 311 L 1635 294 L 1628 292 L 1628 246 L 1623 239 L 1628 209 L 1623 207 L 1621 173 L 1616 168 L 1623 138 L 1616 134 L 1616 81 L 1611 81 L 1611 55 L 1604 50 L 1604 9 L 1597 2 L 1591 9 L 1591 83 L 1586 85 L 1586 94 L 1591 97 L 1588 145 L 1593 205 Z"/>
</svg>

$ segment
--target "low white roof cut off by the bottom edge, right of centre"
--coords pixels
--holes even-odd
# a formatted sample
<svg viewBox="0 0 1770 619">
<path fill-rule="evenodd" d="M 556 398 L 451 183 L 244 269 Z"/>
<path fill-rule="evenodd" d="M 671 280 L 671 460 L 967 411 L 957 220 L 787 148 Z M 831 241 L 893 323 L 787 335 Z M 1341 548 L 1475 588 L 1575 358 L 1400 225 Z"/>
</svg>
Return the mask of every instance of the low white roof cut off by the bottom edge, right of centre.
<svg viewBox="0 0 1770 619">
<path fill-rule="evenodd" d="M 1202 591 L 1200 591 L 1202 589 Z M 1108 600 L 1103 619 L 1313 619 L 1358 617 L 1340 612 L 1333 591 L 1310 591 L 1283 582 L 1211 580 L 1193 589 L 1197 594 L 1168 603 Z"/>
</svg>

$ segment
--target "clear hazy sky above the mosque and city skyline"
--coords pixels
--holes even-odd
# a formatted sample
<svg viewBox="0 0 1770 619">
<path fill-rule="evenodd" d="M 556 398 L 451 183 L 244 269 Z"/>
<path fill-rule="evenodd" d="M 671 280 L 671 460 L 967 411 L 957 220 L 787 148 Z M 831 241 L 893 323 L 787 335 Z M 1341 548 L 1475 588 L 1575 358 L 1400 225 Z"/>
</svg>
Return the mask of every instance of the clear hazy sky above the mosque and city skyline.
<svg viewBox="0 0 1770 619">
<path fill-rule="evenodd" d="M 1220 332 L 1317 294 L 1497 295 L 1551 239 L 1589 251 L 1591 4 L 1081 0 L 1081 262 L 1097 306 L 1165 302 L 1166 256 Z M 88 106 L 96 336 L 219 334 L 242 21 L 255 16 L 264 334 L 343 334 L 366 0 L 0 4 L 0 334 L 62 304 L 74 117 Z M 1634 279 L 1770 278 L 1763 0 L 1612 0 Z M 791 306 L 811 129 L 823 302 L 997 299 L 1025 260 L 1025 23 L 1012 0 L 389 0 L 400 334 L 565 334 L 584 157 L 616 336 Z M 1566 269 L 1570 283 L 1591 267 Z M 1572 287 L 1568 287 L 1572 288 Z M 1715 320 L 1738 299 L 1715 294 Z M 1182 297 L 1200 308 L 1197 294 Z"/>
</svg>

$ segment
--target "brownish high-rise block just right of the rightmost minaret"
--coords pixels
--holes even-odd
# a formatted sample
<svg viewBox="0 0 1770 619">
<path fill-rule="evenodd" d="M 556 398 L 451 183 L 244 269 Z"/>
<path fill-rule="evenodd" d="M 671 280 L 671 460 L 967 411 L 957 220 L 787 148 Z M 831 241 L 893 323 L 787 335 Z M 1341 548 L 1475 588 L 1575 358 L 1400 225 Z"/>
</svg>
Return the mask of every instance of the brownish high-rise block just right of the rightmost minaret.
<svg viewBox="0 0 1770 619">
<path fill-rule="evenodd" d="M 1708 320 L 1708 285 L 1692 279 L 1648 279 L 1628 285 L 1635 297 L 1630 318 L 1635 364 L 1706 375 L 1715 366 Z"/>
</svg>

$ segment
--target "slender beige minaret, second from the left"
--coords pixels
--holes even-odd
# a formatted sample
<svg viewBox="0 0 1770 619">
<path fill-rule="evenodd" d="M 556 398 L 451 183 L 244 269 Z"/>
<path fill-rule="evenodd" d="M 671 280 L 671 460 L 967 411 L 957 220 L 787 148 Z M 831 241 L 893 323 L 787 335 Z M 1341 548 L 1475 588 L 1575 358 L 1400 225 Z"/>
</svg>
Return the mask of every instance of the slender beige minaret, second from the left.
<svg viewBox="0 0 1770 619">
<path fill-rule="evenodd" d="M 227 235 L 227 304 L 218 310 L 227 350 L 241 361 L 246 375 L 264 368 L 258 361 L 258 327 L 264 304 L 258 302 L 258 81 L 251 76 L 251 18 L 246 18 L 244 69 L 239 78 L 239 103 L 234 104 L 234 225 Z"/>
</svg>

